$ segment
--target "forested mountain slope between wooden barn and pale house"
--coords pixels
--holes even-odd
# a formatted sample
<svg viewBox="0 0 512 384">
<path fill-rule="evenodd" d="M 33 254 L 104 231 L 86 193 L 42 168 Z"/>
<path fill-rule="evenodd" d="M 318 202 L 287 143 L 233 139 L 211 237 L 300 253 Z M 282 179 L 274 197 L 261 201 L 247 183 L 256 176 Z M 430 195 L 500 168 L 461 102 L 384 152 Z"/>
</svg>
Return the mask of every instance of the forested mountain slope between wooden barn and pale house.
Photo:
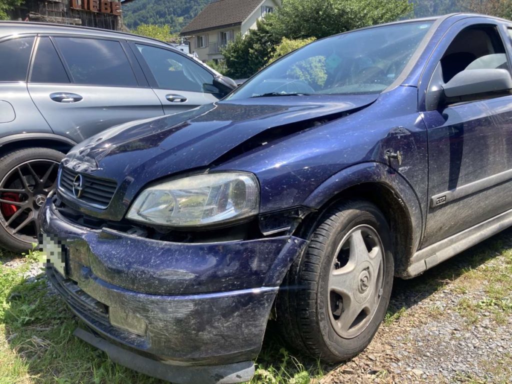
<svg viewBox="0 0 512 384">
<path fill-rule="evenodd" d="M 123 6 L 124 25 L 129 29 L 139 24 L 168 24 L 179 32 L 210 0 L 136 0 Z"/>
</svg>

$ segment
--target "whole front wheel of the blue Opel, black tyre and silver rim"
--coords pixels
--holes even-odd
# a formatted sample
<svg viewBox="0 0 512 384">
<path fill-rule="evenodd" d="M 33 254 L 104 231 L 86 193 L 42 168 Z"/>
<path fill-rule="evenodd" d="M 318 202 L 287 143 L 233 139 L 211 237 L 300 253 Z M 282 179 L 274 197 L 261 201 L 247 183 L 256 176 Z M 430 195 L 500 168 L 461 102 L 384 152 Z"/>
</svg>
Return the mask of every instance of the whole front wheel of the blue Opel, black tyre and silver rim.
<svg viewBox="0 0 512 384">
<path fill-rule="evenodd" d="M 280 290 L 281 334 L 292 348 L 325 362 L 354 357 L 386 314 L 393 275 L 390 229 L 380 210 L 366 201 L 333 206 Z"/>
</svg>

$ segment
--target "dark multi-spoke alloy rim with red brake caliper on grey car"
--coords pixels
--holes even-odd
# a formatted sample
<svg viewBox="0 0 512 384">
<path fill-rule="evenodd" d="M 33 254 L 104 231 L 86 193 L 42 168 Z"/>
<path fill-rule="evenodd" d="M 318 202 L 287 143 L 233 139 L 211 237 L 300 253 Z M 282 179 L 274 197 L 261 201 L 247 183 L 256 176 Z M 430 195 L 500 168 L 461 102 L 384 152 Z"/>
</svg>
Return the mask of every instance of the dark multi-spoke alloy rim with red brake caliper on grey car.
<svg viewBox="0 0 512 384">
<path fill-rule="evenodd" d="M 10 170 L 0 182 L 0 224 L 11 236 L 33 242 L 37 216 L 57 182 L 58 162 L 29 160 Z"/>
</svg>

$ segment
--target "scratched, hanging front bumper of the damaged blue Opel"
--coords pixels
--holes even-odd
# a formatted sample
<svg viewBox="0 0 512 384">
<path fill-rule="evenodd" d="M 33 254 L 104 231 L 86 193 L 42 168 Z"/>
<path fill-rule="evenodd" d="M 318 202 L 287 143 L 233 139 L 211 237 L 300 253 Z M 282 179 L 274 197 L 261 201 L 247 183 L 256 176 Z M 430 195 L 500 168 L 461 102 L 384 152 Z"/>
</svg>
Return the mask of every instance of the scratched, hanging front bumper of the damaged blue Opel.
<svg viewBox="0 0 512 384">
<path fill-rule="evenodd" d="M 306 245 L 289 236 L 183 244 L 92 230 L 60 215 L 51 199 L 40 214 L 66 259 L 65 275 L 51 266 L 47 275 L 71 309 L 111 350 L 160 361 L 166 374 L 145 373 L 175 382 L 250 378 L 275 295 Z"/>
</svg>

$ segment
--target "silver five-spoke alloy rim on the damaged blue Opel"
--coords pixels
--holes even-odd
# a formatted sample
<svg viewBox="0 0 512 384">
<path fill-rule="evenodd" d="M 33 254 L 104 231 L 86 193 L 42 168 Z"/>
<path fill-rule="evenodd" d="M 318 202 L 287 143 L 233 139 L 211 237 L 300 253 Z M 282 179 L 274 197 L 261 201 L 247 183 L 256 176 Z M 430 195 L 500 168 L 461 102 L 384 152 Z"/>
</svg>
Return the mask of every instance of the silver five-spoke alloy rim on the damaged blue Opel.
<svg viewBox="0 0 512 384">
<path fill-rule="evenodd" d="M 370 323 L 382 296 L 384 248 L 377 231 L 359 225 L 339 243 L 328 281 L 329 317 L 336 333 L 354 338 Z"/>
</svg>

